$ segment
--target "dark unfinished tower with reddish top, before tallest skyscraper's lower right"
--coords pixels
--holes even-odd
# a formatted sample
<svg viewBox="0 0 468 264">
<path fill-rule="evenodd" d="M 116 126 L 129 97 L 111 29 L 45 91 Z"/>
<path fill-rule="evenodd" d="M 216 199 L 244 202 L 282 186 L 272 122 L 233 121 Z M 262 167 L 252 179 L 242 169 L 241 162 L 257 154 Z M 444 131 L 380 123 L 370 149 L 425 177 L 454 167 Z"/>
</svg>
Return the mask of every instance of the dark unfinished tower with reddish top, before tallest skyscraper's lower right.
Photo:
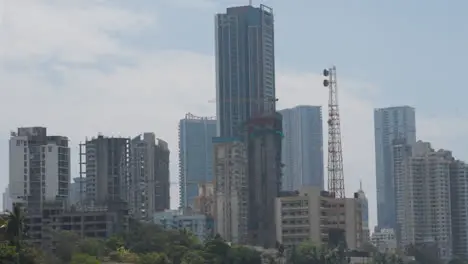
<svg viewBox="0 0 468 264">
<path fill-rule="evenodd" d="M 250 119 L 244 127 L 248 160 L 249 244 L 276 246 L 275 198 L 281 191 L 282 117 L 268 113 Z"/>
</svg>

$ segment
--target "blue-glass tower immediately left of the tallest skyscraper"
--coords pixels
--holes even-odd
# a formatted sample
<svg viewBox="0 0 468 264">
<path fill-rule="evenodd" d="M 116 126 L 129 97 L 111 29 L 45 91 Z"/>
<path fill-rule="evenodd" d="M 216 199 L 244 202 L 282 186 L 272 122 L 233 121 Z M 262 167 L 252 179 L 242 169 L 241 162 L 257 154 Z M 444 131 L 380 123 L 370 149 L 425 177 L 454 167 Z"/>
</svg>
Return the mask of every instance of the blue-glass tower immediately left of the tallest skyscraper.
<svg viewBox="0 0 468 264">
<path fill-rule="evenodd" d="M 185 115 L 179 122 L 179 206 L 192 207 L 198 185 L 213 181 L 216 119 Z"/>
</svg>

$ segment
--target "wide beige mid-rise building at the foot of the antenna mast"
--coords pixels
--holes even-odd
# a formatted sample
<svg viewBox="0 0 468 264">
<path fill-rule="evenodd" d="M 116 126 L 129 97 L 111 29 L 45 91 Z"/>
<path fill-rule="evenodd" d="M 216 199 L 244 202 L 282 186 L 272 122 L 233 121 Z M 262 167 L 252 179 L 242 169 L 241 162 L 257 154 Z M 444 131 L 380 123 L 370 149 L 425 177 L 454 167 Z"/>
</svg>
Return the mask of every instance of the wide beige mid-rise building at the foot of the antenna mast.
<svg viewBox="0 0 468 264">
<path fill-rule="evenodd" d="M 362 213 L 356 198 L 334 198 L 317 187 L 276 199 L 276 237 L 285 247 L 303 241 L 327 243 L 334 228 L 344 230 L 349 249 L 361 246 Z M 339 217 L 339 219 L 337 218 Z"/>
</svg>

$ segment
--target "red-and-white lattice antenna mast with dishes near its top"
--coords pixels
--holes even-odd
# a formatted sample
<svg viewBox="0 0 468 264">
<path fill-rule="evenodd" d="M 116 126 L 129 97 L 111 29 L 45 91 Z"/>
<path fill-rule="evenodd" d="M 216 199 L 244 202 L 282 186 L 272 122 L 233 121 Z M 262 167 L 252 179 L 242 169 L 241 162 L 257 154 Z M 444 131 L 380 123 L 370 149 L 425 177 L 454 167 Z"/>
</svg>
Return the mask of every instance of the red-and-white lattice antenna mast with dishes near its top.
<svg viewBox="0 0 468 264">
<path fill-rule="evenodd" d="M 341 146 L 340 113 L 336 67 L 323 70 L 323 86 L 329 89 L 328 98 L 328 191 L 337 198 L 345 198 L 343 149 Z"/>
</svg>

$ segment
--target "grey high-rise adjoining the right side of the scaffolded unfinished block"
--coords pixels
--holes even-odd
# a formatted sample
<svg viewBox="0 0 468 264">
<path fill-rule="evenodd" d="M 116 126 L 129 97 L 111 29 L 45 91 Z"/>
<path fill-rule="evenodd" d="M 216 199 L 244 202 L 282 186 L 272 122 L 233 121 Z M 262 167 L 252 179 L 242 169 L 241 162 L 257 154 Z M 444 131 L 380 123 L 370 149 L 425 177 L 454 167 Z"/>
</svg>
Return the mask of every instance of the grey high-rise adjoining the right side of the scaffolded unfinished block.
<svg viewBox="0 0 468 264">
<path fill-rule="evenodd" d="M 170 207 L 169 148 L 154 133 L 144 133 L 130 141 L 130 192 L 133 216 L 151 220 L 153 214 Z"/>
</svg>

